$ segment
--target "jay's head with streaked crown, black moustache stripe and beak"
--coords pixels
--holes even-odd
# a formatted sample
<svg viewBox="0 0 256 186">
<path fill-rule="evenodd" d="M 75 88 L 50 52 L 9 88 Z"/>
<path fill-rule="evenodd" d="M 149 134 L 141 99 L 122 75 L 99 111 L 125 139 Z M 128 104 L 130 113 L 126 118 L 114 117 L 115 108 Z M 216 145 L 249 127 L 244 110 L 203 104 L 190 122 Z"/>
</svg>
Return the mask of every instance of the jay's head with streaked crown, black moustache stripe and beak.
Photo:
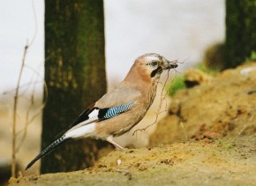
<svg viewBox="0 0 256 186">
<path fill-rule="evenodd" d="M 133 68 L 137 69 L 137 73 L 141 78 L 152 81 L 160 78 L 162 71 L 177 68 L 177 63 L 169 62 L 169 60 L 158 54 L 148 53 L 139 56 Z"/>
</svg>

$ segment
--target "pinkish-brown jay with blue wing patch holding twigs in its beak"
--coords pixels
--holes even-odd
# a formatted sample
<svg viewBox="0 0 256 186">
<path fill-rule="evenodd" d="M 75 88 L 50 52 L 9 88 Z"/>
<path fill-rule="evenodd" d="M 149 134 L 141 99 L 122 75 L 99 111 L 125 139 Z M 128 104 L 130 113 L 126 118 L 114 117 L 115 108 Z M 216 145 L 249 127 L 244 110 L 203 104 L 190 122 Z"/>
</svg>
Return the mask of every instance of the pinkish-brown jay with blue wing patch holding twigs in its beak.
<svg viewBox="0 0 256 186">
<path fill-rule="evenodd" d="M 174 68 L 177 68 L 177 63 L 158 54 L 139 56 L 124 81 L 79 115 L 64 135 L 39 153 L 26 169 L 70 138 L 100 138 L 117 149 L 124 149 L 113 137 L 124 134 L 139 123 L 154 101 L 162 71 Z"/>
</svg>

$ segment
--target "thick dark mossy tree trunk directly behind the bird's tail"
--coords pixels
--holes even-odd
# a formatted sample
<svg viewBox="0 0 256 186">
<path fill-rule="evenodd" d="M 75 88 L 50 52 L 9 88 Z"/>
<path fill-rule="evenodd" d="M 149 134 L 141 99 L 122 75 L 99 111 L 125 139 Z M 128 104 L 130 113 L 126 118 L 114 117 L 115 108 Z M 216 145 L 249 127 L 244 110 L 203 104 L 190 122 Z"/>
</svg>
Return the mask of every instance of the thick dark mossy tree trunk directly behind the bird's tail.
<svg viewBox="0 0 256 186">
<path fill-rule="evenodd" d="M 45 0 L 45 80 L 41 149 L 56 139 L 83 109 L 106 92 L 102 0 Z M 41 173 L 78 170 L 94 164 L 92 139 L 70 141 L 41 160 Z"/>
</svg>

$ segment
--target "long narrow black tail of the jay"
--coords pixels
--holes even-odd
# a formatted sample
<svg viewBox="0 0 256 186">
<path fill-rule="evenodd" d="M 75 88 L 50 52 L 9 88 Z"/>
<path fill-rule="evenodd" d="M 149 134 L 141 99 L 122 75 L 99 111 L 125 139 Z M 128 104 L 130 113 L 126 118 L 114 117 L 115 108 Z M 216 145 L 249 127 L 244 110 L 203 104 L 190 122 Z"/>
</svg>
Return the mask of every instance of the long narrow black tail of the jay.
<svg viewBox="0 0 256 186">
<path fill-rule="evenodd" d="M 56 149 L 56 147 L 58 147 L 59 145 L 62 145 L 66 140 L 68 140 L 70 138 L 64 138 L 64 137 L 61 137 L 61 138 L 58 138 L 56 139 L 55 142 L 53 142 L 51 145 L 49 145 L 48 147 L 46 147 L 40 154 L 38 154 L 34 160 L 32 160 L 27 166 L 26 166 L 26 169 L 33 166 L 35 161 L 41 159 L 43 156 L 51 153 L 53 150 Z"/>
</svg>

